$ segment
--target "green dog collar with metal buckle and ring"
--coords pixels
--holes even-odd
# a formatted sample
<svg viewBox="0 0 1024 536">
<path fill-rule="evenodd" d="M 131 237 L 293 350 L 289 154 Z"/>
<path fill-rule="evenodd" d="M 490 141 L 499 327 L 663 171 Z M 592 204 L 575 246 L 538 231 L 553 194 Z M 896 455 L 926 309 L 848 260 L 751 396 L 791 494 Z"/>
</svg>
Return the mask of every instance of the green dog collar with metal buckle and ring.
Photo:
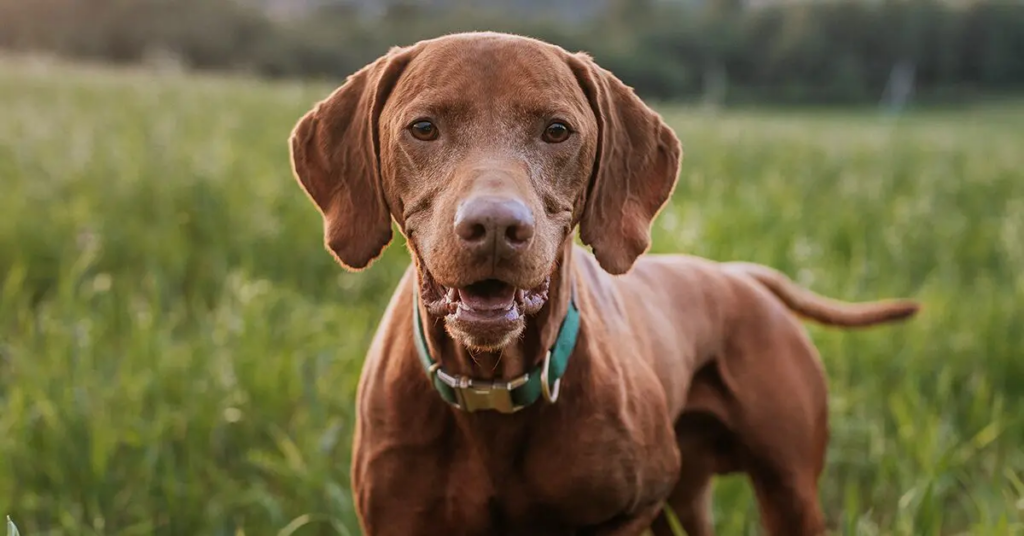
<svg viewBox="0 0 1024 536">
<path fill-rule="evenodd" d="M 544 356 L 544 361 L 529 372 L 509 381 L 482 381 L 467 376 L 452 375 L 430 357 L 423 321 L 418 306 L 419 296 L 413 291 L 413 329 L 416 331 L 416 352 L 434 388 L 449 404 L 465 411 L 497 410 L 515 413 L 537 402 L 542 396 L 549 403 L 558 400 L 558 386 L 569 356 L 580 334 L 580 310 L 575 289 L 569 297 L 568 311 L 558 330 L 558 338 Z"/>
</svg>

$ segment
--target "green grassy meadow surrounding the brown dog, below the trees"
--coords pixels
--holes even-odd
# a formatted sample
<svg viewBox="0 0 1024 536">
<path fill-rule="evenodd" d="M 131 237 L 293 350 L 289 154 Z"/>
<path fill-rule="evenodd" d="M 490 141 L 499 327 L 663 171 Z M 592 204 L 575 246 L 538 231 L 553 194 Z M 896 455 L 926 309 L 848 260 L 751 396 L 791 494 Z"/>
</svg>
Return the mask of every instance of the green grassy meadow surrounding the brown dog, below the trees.
<svg viewBox="0 0 1024 536">
<path fill-rule="evenodd" d="M 408 262 L 343 273 L 291 177 L 329 88 L 0 64 L 0 516 L 22 534 L 357 534 L 364 352 Z M 665 107 L 654 249 L 776 266 L 906 325 L 810 326 L 840 534 L 1024 534 L 1024 106 Z M 411 468 L 415 470 L 415 468 Z M 720 481 L 723 535 L 756 533 Z"/>
</svg>

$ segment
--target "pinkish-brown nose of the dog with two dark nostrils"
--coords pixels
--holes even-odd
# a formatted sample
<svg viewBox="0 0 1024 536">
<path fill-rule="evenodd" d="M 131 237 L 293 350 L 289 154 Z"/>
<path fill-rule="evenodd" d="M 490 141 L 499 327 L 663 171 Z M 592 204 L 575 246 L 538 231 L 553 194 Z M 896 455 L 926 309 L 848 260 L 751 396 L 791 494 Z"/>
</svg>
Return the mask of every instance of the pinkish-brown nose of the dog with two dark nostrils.
<svg viewBox="0 0 1024 536">
<path fill-rule="evenodd" d="M 477 197 L 459 207 L 455 232 L 466 248 L 509 255 L 534 240 L 534 214 L 516 199 Z"/>
</svg>

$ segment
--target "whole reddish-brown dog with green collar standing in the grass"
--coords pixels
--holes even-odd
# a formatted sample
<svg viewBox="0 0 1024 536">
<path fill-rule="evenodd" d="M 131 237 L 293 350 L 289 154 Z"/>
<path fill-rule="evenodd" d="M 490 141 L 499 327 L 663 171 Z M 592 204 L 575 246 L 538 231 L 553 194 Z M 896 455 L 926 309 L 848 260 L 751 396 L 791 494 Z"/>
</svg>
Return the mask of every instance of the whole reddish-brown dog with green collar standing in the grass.
<svg viewBox="0 0 1024 536">
<path fill-rule="evenodd" d="M 291 152 L 342 265 L 392 221 L 413 259 L 359 382 L 366 534 L 660 535 L 669 505 L 708 535 L 710 481 L 733 471 L 770 534 L 825 530 L 825 378 L 794 314 L 867 326 L 916 304 L 644 255 L 682 151 L 588 55 L 497 33 L 393 48 Z"/>
</svg>

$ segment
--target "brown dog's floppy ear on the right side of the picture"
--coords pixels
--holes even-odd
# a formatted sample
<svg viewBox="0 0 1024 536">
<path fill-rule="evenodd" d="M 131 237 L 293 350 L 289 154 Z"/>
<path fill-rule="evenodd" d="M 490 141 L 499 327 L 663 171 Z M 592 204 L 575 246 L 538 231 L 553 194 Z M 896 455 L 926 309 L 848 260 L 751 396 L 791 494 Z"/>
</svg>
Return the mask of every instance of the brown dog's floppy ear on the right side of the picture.
<svg viewBox="0 0 1024 536">
<path fill-rule="evenodd" d="M 679 138 L 633 89 L 590 56 L 569 56 L 597 118 L 594 171 L 580 216 L 580 238 L 601 267 L 625 274 L 650 247 L 650 225 L 679 175 Z"/>
</svg>

